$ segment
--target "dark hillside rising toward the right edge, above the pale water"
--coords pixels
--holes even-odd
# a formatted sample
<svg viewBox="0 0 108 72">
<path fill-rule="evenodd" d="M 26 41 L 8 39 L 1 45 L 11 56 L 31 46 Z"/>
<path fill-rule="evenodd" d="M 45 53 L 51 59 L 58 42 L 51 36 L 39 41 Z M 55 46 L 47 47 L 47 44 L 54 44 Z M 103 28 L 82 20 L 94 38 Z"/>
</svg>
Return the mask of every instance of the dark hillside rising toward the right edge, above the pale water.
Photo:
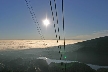
<svg viewBox="0 0 108 72">
<path fill-rule="evenodd" d="M 108 36 L 79 42 L 72 47 L 75 47 L 76 50 L 66 53 L 69 60 L 108 66 Z M 69 48 L 67 49 L 69 51 Z"/>
</svg>

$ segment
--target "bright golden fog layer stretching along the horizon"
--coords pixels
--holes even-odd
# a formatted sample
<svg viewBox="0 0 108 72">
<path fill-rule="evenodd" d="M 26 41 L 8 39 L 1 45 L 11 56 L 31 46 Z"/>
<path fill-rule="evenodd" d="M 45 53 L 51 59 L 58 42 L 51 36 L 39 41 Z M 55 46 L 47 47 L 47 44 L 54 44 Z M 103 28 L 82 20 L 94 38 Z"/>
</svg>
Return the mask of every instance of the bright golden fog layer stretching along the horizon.
<svg viewBox="0 0 108 72">
<path fill-rule="evenodd" d="M 66 40 L 67 44 L 82 42 L 83 40 Z M 0 50 L 7 49 L 30 49 L 30 48 L 47 48 L 58 45 L 63 45 L 63 40 L 0 40 Z"/>
</svg>

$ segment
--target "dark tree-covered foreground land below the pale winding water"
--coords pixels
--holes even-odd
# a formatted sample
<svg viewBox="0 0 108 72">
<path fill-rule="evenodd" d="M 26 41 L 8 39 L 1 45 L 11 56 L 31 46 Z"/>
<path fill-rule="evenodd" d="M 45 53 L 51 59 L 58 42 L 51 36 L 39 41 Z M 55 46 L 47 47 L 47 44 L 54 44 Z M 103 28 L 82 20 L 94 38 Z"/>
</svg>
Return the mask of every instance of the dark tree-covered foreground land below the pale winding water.
<svg viewBox="0 0 108 72">
<path fill-rule="evenodd" d="M 108 72 L 108 69 L 100 68 L 97 71 L 84 63 L 50 63 L 42 59 L 13 60 L 0 59 L 0 72 Z"/>
</svg>

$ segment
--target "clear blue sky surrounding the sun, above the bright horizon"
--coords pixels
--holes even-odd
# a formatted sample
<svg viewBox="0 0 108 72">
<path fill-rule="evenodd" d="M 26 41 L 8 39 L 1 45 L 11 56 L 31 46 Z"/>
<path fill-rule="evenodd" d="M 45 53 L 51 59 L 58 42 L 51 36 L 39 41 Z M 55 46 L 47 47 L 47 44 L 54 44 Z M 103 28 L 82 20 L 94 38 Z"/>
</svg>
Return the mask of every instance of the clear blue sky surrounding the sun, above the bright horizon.
<svg viewBox="0 0 108 72">
<path fill-rule="evenodd" d="M 30 0 L 45 39 L 56 39 L 50 0 Z M 64 0 L 65 31 L 62 24 L 62 0 L 56 0 L 57 33 L 66 39 L 92 39 L 108 36 L 108 0 Z M 50 20 L 46 28 L 43 20 Z M 56 18 L 56 16 L 55 16 Z M 0 0 L 0 39 L 41 39 L 25 0 Z"/>
</svg>

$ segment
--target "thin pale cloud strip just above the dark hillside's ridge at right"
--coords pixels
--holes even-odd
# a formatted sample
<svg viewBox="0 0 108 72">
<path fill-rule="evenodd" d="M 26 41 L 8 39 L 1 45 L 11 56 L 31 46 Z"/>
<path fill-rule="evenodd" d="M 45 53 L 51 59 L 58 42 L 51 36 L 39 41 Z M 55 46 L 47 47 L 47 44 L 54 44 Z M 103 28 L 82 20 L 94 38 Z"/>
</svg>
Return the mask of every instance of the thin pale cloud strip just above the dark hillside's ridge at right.
<svg viewBox="0 0 108 72">
<path fill-rule="evenodd" d="M 94 33 L 89 35 L 79 35 L 79 36 L 72 37 L 72 39 L 90 40 L 90 39 L 95 39 L 104 36 L 108 36 L 108 30 L 103 30 L 99 32 L 95 31 Z"/>
</svg>

